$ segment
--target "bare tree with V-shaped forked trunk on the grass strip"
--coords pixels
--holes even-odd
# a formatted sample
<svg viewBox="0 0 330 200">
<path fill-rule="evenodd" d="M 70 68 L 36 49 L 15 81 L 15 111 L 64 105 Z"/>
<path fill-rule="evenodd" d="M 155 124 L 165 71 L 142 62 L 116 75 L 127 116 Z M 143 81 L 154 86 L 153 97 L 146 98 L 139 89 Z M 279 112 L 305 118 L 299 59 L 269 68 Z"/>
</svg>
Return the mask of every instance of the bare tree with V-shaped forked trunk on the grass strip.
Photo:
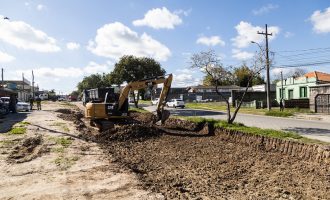
<svg viewBox="0 0 330 200">
<path fill-rule="evenodd" d="M 261 54 L 260 54 L 261 55 Z M 244 97 L 246 92 L 248 91 L 252 79 L 259 75 L 260 71 L 262 69 L 265 69 L 264 61 L 262 59 L 262 56 L 256 55 L 255 58 L 255 64 L 253 67 L 251 67 L 250 76 L 248 79 L 248 83 L 245 87 L 245 90 L 242 94 L 242 96 L 239 98 L 237 106 L 231 114 L 230 111 L 230 102 L 229 98 L 226 97 L 223 92 L 219 90 L 219 86 L 221 86 L 221 83 L 228 81 L 229 79 L 233 79 L 234 76 L 231 73 L 231 67 L 224 67 L 220 61 L 220 59 L 216 56 L 214 50 L 209 51 L 202 51 L 197 54 L 193 54 L 191 57 L 191 67 L 192 68 L 199 68 L 201 69 L 206 75 L 210 76 L 213 82 L 215 83 L 215 89 L 216 93 L 221 96 L 221 98 L 226 103 L 226 110 L 227 110 L 227 122 L 229 124 L 232 124 L 235 121 L 236 115 L 239 111 L 239 109 L 242 106 Z"/>
</svg>

